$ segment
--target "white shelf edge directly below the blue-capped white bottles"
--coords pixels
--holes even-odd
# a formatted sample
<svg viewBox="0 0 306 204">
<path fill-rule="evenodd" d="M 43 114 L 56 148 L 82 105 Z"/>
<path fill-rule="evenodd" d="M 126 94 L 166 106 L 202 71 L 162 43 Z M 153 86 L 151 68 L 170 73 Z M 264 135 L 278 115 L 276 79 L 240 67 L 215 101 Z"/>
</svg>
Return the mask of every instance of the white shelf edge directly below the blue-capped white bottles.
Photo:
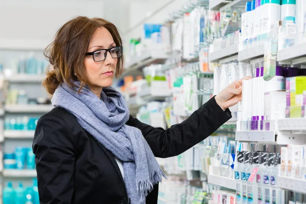
<svg viewBox="0 0 306 204">
<path fill-rule="evenodd" d="M 265 45 L 259 45 L 249 49 L 244 49 L 238 53 L 238 61 L 249 63 L 251 60 L 264 56 Z"/>
</svg>

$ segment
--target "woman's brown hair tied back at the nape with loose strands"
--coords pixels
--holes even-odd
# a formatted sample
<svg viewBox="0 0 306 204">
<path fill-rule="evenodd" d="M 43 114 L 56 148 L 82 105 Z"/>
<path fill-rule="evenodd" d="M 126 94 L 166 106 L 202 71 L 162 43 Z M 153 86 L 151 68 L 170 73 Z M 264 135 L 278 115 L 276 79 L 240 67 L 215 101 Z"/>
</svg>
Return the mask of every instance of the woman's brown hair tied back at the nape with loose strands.
<svg viewBox="0 0 306 204">
<path fill-rule="evenodd" d="M 80 81 L 79 91 L 85 85 L 91 86 L 86 74 L 84 58 L 92 35 L 101 27 L 112 34 L 116 46 L 122 46 L 122 39 L 116 26 L 101 18 L 79 16 L 65 23 L 58 30 L 54 41 L 44 51 L 45 57 L 54 68 L 52 71 L 47 71 L 46 79 L 42 82 L 49 94 L 53 95 L 63 82 L 73 86 L 73 81 Z M 116 77 L 119 77 L 123 71 L 123 61 L 122 54 L 115 70 Z"/>
</svg>

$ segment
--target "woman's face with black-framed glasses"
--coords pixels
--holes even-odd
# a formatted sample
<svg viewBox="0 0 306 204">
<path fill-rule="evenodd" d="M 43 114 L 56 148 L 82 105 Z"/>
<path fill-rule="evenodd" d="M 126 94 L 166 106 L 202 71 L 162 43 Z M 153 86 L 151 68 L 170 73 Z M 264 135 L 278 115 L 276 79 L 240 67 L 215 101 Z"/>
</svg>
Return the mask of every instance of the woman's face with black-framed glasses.
<svg viewBox="0 0 306 204">
<path fill-rule="evenodd" d="M 91 53 L 98 49 L 108 49 L 115 46 L 111 33 L 106 28 L 99 28 L 90 39 L 87 52 Z M 86 72 L 93 88 L 101 91 L 103 87 L 112 85 L 117 61 L 118 59 L 113 59 L 109 52 L 106 59 L 101 62 L 95 62 L 91 55 L 85 57 Z"/>
</svg>

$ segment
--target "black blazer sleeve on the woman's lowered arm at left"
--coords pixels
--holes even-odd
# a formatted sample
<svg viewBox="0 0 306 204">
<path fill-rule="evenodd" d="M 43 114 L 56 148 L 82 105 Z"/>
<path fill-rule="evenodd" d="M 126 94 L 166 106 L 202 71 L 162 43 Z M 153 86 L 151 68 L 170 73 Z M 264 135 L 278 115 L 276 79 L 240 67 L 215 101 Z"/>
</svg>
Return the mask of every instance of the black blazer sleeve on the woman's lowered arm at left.
<svg viewBox="0 0 306 204">
<path fill-rule="evenodd" d="M 72 203 L 74 146 L 66 121 L 57 115 L 42 116 L 32 147 L 40 204 Z"/>
</svg>

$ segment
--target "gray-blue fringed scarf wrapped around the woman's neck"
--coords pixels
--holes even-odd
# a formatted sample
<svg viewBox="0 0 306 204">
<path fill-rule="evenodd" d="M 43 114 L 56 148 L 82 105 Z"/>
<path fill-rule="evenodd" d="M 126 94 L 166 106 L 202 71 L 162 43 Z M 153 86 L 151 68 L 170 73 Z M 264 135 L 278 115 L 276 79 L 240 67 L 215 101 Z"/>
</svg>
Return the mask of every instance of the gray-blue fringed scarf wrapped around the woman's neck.
<svg viewBox="0 0 306 204">
<path fill-rule="evenodd" d="M 131 203 L 145 203 L 153 185 L 165 177 L 140 130 L 128 126 L 129 108 L 123 96 L 112 87 L 103 88 L 101 99 L 86 86 L 61 84 L 52 104 L 72 113 L 81 126 L 123 162 L 124 183 Z"/>
</svg>

